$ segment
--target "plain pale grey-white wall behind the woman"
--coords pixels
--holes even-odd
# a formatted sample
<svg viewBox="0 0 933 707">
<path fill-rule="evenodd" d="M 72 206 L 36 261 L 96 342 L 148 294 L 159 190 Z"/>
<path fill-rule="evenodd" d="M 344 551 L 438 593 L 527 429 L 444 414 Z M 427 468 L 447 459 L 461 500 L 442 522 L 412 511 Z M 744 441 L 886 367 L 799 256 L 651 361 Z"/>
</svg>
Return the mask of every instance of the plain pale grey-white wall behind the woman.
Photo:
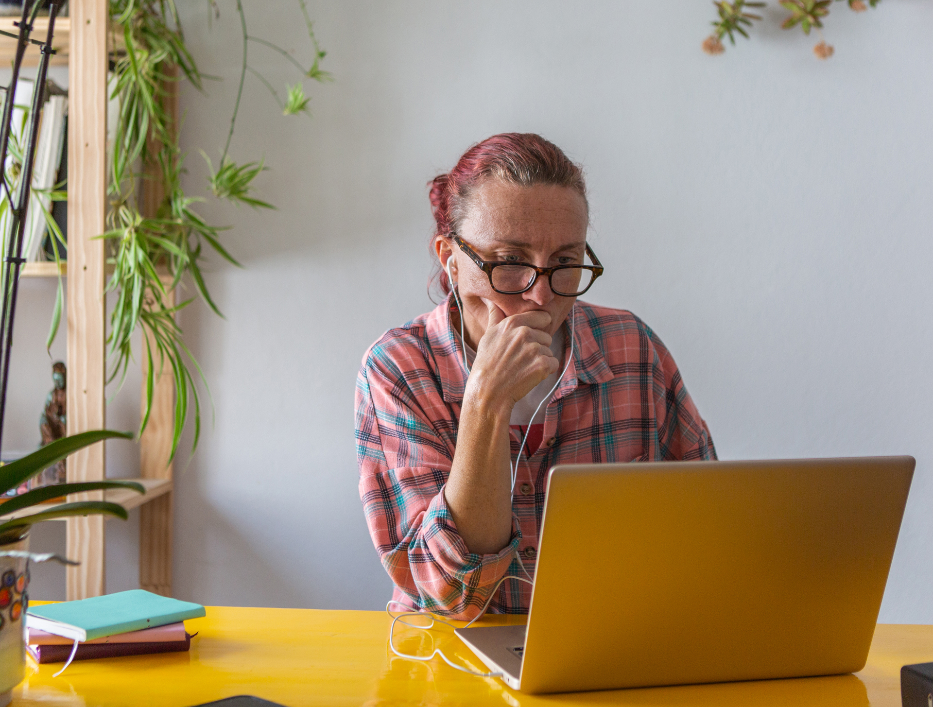
<svg viewBox="0 0 933 707">
<path fill-rule="evenodd" d="M 753 41 L 711 58 L 708 3 L 313 3 L 336 83 L 310 88 L 309 120 L 248 78 L 233 141 L 235 159 L 265 157 L 258 185 L 278 211 L 202 207 L 235 226 L 224 242 L 245 268 L 211 260 L 226 320 L 200 303 L 181 317 L 216 422 L 177 482 L 176 595 L 383 606 L 356 493 L 355 372 L 385 328 L 432 306 L 425 182 L 522 131 L 585 165 L 607 270 L 588 298 L 658 331 L 720 457 L 917 458 L 881 620 L 933 622 L 933 5 L 834 4 L 829 62 L 770 5 Z M 201 4 L 185 11 L 202 70 L 225 76 L 208 97 L 184 92 L 197 191 L 241 55 L 231 3 L 212 29 Z M 305 52 L 292 3 L 247 11 L 252 34 Z M 250 52 L 276 86 L 296 79 Z M 132 520 L 108 529 L 121 584 Z"/>
</svg>

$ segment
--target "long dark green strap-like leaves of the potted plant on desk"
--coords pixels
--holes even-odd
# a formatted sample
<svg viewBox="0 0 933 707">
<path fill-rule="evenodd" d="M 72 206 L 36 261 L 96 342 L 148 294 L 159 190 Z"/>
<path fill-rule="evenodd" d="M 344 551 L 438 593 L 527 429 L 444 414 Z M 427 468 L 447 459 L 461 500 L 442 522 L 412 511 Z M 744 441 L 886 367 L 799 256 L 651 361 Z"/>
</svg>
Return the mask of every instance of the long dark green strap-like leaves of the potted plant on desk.
<svg viewBox="0 0 933 707">
<path fill-rule="evenodd" d="M 81 432 L 70 437 L 56 439 L 54 442 L 50 442 L 45 447 L 17 459 L 15 462 L 4 464 L 0 466 L 0 494 L 16 489 L 43 469 L 61 462 L 74 451 L 101 442 L 104 439 L 115 437 L 132 439 L 132 432 L 113 432 L 112 430 Z M 146 492 L 146 489 L 135 481 L 87 481 L 84 483 L 54 484 L 13 496 L 0 505 L 0 513 L 7 516 L 14 512 L 34 508 L 37 504 L 45 503 L 67 493 L 102 491 L 104 489 L 132 489 L 135 492 Z M 46 511 L 0 522 L 0 546 L 21 540 L 37 522 L 68 516 L 87 516 L 89 514 L 104 514 L 116 516 L 123 520 L 127 519 L 126 509 L 123 506 L 108 501 L 76 501 L 74 503 L 60 504 L 52 506 Z"/>
</svg>

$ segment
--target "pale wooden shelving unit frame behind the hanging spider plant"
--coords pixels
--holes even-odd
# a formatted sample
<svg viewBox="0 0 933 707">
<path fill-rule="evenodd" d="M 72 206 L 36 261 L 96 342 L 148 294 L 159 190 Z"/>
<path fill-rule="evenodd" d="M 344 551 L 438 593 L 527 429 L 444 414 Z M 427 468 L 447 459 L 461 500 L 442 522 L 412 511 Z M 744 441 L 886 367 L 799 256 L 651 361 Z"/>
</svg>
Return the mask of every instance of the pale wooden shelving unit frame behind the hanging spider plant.
<svg viewBox="0 0 933 707">
<path fill-rule="evenodd" d="M 67 365 L 68 434 L 106 426 L 105 314 L 106 265 L 106 79 L 108 0 L 71 0 L 70 17 L 56 22 L 57 63 L 68 64 L 68 262 Z M 36 21 L 40 26 L 41 19 Z M 48 22 L 48 20 L 46 20 Z M 61 24 L 59 23 L 61 22 Z M 2 24 L 2 21 L 0 21 Z M 48 27 L 48 23 L 45 25 Z M 0 27 L 2 28 L 2 27 Z M 60 34 L 61 29 L 61 34 Z M 0 57 L 14 40 L 0 38 Z M 29 55 L 27 55 L 28 61 Z M 34 58 L 35 62 L 35 58 Z M 175 94 L 170 96 L 176 116 Z M 144 197 L 144 209 L 160 201 Z M 28 263 L 23 276 L 54 277 L 53 263 Z M 145 373 L 145 371 L 144 371 Z M 145 381 L 145 375 L 144 375 Z M 139 440 L 141 480 L 146 495 L 106 492 L 105 498 L 127 509 L 141 507 L 139 581 L 143 589 L 172 591 L 172 465 L 168 464 L 174 422 L 174 381 L 170 374 L 156 383 L 146 433 Z M 104 444 L 68 457 L 69 481 L 105 476 Z M 103 500 L 104 492 L 74 494 L 69 501 Z M 67 570 L 66 597 L 84 599 L 104 593 L 105 529 L 101 516 L 65 520 L 67 555 L 80 561 Z"/>
</svg>

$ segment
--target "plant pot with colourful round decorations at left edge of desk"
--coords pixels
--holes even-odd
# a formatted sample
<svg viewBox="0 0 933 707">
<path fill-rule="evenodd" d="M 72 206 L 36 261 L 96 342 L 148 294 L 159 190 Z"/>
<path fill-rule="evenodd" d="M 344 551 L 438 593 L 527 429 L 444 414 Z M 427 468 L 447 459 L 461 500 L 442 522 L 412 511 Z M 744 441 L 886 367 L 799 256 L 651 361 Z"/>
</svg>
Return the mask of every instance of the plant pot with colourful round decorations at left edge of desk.
<svg viewBox="0 0 933 707">
<path fill-rule="evenodd" d="M 29 538 L 0 545 L 4 550 L 28 550 Z M 26 668 L 26 607 L 29 566 L 26 558 L 0 557 L 0 707 L 13 699 Z"/>
</svg>

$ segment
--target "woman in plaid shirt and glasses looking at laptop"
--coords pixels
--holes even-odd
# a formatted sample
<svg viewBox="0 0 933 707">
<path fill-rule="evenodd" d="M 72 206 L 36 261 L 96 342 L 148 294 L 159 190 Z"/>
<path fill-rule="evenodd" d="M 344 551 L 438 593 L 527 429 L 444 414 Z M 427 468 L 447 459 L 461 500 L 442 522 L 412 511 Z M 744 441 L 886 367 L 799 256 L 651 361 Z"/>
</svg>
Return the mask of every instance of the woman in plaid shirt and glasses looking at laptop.
<svg viewBox="0 0 933 707">
<path fill-rule="evenodd" d="M 577 300 L 603 269 L 582 172 L 560 148 L 494 135 L 430 198 L 447 298 L 363 357 L 359 490 L 393 601 L 472 618 L 504 576 L 534 572 L 551 466 L 716 450 L 651 329 Z M 506 581 L 490 610 L 526 613 L 530 598 Z"/>
</svg>

